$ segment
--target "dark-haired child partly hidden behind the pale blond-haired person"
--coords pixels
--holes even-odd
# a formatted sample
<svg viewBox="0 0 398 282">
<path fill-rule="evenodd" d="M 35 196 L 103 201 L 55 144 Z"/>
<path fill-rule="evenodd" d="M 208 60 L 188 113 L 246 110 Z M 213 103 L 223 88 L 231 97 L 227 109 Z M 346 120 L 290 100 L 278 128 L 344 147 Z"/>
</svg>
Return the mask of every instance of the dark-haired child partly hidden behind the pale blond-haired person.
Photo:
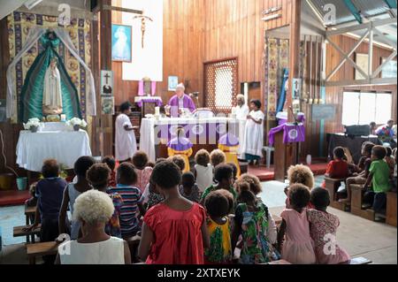
<svg viewBox="0 0 398 282">
<path fill-rule="evenodd" d="M 66 211 L 71 210 L 71 214 L 73 217 L 73 204 L 76 198 L 90 190 L 92 187 L 88 183 L 88 179 L 86 178 L 86 173 L 88 169 L 93 165 L 96 164 L 96 160 L 91 156 L 80 156 L 77 161 L 74 163 L 74 173 L 77 177 L 76 183 L 69 183 L 64 191 L 64 198 L 62 199 L 61 210 L 59 211 L 59 233 L 65 233 L 66 226 Z M 80 230 L 80 222 L 77 220 L 73 220 L 71 222 L 71 239 L 76 240 L 79 237 L 79 230 Z"/>
</svg>

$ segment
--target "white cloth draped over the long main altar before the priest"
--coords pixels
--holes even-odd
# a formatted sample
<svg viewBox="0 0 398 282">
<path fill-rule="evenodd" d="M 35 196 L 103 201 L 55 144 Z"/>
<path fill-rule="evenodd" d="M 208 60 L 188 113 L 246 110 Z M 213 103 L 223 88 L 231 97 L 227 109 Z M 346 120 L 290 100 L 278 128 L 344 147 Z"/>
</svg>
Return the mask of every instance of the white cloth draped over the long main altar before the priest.
<svg viewBox="0 0 398 282">
<path fill-rule="evenodd" d="M 176 126 L 179 125 L 207 125 L 207 124 L 238 124 L 233 133 L 236 137 L 239 138 L 239 143 L 243 144 L 244 140 L 244 128 L 246 126 L 246 120 L 236 119 L 236 118 L 142 118 L 141 122 L 141 129 L 140 129 L 140 150 L 147 153 L 149 157 L 149 161 L 155 162 L 156 161 L 156 149 L 155 146 L 159 143 L 157 138 L 157 133 L 155 132 L 156 126 Z M 232 126 L 231 126 L 232 127 Z M 231 132 L 231 129 L 230 129 Z M 210 133 L 208 133 L 210 134 Z M 220 133 L 222 135 L 222 133 Z M 214 144 L 216 144 L 214 142 Z M 239 152 L 240 153 L 240 152 Z"/>
</svg>

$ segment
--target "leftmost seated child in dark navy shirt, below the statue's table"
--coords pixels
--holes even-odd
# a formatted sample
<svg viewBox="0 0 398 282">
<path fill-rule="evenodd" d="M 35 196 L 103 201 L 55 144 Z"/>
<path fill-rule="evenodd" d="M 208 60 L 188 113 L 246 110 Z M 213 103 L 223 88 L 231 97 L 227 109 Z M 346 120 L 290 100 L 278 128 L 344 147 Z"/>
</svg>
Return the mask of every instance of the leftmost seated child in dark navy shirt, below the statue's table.
<svg viewBox="0 0 398 282">
<path fill-rule="evenodd" d="M 44 161 L 42 177 L 36 185 L 37 206 L 34 224 L 24 230 L 32 231 L 41 223 L 40 241 L 50 242 L 56 240 L 59 235 L 58 216 L 67 183 L 59 177 L 59 164 L 55 159 Z M 43 256 L 46 264 L 53 264 L 55 259 L 55 255 Z"/>
</svg>

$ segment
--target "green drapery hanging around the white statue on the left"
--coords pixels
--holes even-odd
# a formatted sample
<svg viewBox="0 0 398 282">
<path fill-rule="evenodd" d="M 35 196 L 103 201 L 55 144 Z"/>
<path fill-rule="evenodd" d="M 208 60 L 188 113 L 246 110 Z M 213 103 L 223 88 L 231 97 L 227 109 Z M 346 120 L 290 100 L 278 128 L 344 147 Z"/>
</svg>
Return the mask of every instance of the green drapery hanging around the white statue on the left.
<svg viewBox="0 0 398 282">
<path fill-rule="evenodd" d="M 44 50 L 34 59 L 34 63 L 27 71 L 27 77 L 21 91 L 19 121 L 27 122 L 29 118 L 42 119 L 44 76 L 49 68 L 52 57 L 57 57 L 57 67 L 61 80 L 63 113 L 66 119 L 81 118 L 78 91 L 66 72 L 64 62 L 55 50 L 59 44 L 57 35 L 53 32 L 48 32 L 42 36 L 41 41 Z"/>
</svg>

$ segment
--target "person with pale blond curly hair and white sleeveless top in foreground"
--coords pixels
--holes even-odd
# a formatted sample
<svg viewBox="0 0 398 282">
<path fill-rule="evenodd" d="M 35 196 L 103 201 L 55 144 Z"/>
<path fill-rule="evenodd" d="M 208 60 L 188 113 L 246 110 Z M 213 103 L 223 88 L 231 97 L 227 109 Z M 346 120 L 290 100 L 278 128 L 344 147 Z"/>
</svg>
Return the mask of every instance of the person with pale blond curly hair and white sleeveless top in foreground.
<svg viewBox="0 0 398 282">
<path fill-rule="evenodd" d="M 131 264 L 127 242 L 105 232 L 105 224 L 115 209 L 108 194 L 89 190 L 76 198 L 73 207 L 73 217 L 80 221 L 83 237 L 59 245 L 56 263 Z"/>
</svg>

